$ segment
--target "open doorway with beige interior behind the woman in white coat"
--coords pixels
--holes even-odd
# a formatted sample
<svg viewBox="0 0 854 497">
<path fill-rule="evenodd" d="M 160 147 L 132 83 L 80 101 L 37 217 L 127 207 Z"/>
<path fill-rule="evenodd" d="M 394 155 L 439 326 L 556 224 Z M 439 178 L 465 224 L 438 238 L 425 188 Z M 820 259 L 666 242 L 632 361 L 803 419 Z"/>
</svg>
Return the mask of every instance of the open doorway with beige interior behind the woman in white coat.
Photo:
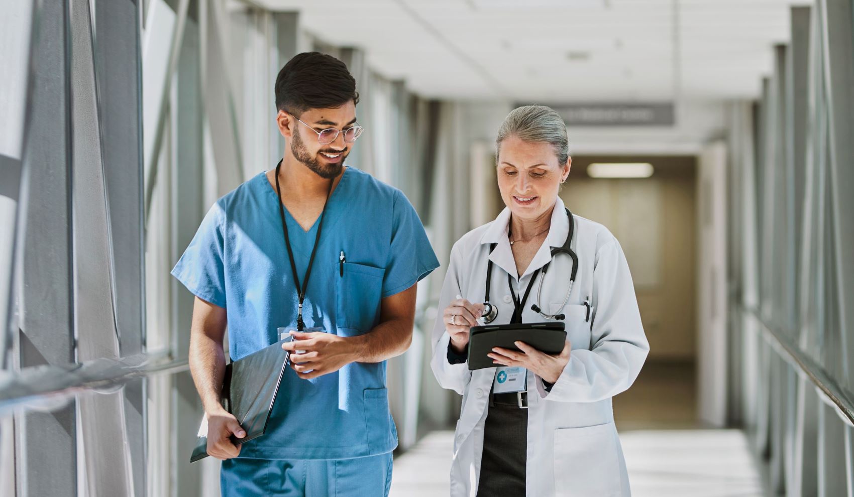
<svg viewBox="0 0 854 497">
<path fill-rule="evenodd" d="M 593 178 L 597 163 L 649 163 L 648 178 Z M 605 225 L 635 283 L 650 354 L 635 384 L 614 398 L 620 430 L 690 428 L 697 422 L 697 159 L 576 155 L 560 196 Z"/>
</svg>

